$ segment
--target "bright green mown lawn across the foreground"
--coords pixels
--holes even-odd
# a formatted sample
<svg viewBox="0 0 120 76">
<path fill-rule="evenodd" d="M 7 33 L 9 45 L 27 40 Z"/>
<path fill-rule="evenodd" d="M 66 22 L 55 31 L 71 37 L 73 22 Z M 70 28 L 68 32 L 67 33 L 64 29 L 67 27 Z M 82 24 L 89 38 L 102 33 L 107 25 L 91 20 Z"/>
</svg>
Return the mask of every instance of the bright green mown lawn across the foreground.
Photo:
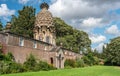
<svg viewBox="0 0 120 76">
<path fill-rule="evenodd" d="M 120 67 L 93 66 L 75 69 L 6 74 L 1 76 L 120 76 Z"/>
</svg>

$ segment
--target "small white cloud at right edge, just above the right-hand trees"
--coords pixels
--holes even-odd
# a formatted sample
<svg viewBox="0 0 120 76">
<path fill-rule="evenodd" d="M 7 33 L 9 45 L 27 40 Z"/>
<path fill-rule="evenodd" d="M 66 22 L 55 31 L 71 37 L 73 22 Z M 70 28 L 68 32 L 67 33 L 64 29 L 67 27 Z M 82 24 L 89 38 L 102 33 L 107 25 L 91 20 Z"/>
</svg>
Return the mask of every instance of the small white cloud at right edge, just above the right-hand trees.
<svg viewBox="0 0 120 76">
<path fill-rule="evenodd" d="M 120 30 L 117 27 L 117 25 L 112 25 L 109 28 L 106 29 L 105 31 L 107 34 L 114 35 L 114 36 L 119 36 L 120 35 Z"/>
</svg>

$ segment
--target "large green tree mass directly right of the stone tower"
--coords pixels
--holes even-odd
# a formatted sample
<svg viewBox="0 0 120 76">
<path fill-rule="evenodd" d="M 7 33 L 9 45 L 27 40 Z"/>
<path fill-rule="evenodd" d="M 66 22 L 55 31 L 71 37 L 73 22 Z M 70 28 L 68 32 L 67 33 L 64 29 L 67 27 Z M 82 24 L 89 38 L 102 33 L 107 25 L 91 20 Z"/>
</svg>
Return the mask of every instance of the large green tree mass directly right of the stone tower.
<svg viewBox="0 0 120 76">
<path fill-rule="evenodd" d="M 60 18 L 54 18 L 56 28 L 56 44 L 62 43 L 63 47 L 79 53 L 80 50 L 90 48 L 91 41 L 88 34 L 83 31 L 73 29 Z"/>
</svg>

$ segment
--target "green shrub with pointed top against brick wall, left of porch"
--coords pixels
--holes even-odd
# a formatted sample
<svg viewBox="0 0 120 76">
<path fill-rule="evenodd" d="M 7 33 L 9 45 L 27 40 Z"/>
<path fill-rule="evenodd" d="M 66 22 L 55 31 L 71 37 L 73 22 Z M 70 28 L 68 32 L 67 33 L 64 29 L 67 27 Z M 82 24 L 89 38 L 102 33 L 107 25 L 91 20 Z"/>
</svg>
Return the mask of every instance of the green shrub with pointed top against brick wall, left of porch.
<svg viewBox="0 0 120 76">
<path fill-rule="evenodd" d="M 52 65 L 49 65 L 47 62 L 43 61 L 37 62 L 32 54 L 30 54 L 30 56 L 25 61 L 24 68 L 27 71 L 40 71 L 40 70 L 47 71 L 55 69 Z"/>
</svg>

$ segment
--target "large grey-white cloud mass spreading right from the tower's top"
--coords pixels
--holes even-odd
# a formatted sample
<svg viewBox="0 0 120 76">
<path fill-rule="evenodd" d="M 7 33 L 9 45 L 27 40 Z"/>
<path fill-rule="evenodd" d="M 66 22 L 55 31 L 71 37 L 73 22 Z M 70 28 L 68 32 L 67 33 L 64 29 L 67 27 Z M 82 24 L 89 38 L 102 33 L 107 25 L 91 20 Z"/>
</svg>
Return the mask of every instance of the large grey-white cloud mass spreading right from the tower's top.
<svg viewBox="0 0 120 76">
<path fill-rule="evenodd" d="M 108 11 L 119 8 L 119 0 L 52 0 L 50 11 L 77 29 L 91 30 L 110 22 Z M 114 5 L 114 6 L 113 6 Z M 92 22 L 93 21 L 93 22 Z M 84 25 L 84 26 L 83 26 Z"/>
</svg>

